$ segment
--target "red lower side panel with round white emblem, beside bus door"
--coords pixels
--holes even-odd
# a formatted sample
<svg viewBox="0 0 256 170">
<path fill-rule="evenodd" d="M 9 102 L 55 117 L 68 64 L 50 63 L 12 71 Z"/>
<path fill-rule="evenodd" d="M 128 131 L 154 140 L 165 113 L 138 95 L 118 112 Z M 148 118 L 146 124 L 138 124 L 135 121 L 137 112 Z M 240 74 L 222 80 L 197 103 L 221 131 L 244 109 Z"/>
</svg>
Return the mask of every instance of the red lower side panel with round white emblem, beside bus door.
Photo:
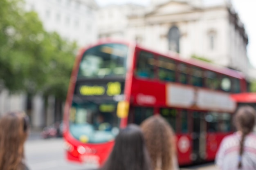
<svg viewBox="0 0 256 170">
<path fill-rule="evenodd" d="M 177 134 L 177 156 L 179 165 L 191 164 L 192 139 L 190 135 Z"/>
</svg>

